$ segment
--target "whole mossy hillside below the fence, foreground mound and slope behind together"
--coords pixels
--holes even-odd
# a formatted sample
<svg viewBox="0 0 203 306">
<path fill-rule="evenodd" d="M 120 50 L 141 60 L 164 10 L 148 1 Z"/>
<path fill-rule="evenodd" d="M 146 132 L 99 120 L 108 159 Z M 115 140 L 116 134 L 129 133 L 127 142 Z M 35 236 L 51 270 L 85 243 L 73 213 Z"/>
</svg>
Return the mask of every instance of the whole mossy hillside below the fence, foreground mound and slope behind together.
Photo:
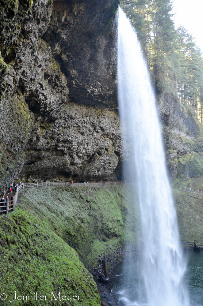
<svg viewBox="0 0 203 306">
<path fill-rule="evenodd" d="M 122 260 L 120 251 L 137 246 L 140 213 L 133 188 L 46 187 L 21 192 L 16 210 L 0 216 L 2 292 L 34 297 L 39 291 L 50 298 L 60 291 L 69 298 L 81 296 L 76 304 L 100 305 L 96 283 L 83 263 L 103 273 L 104 253 L 111 269 Z M 61 305 L 59 300 L 46 303 Z"/>
</svg>

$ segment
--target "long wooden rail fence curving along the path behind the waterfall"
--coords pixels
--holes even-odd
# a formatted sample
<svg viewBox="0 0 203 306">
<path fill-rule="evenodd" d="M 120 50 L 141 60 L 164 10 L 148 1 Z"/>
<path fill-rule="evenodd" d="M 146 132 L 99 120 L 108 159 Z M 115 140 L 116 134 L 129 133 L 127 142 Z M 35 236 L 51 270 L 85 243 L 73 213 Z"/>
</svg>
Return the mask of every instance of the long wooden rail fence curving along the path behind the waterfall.
<svg viewBox="0 0 203 306">
<path fill-rule="evenodd" d="M 17 201 L 17 196 L 18 192 L 21 192 L 25 189 L 28 188 L 38 188 L 38 187 L 53 187 L 53 186 L 71 186 L 71 187 L 82 187 L 82 188 L 87 188 L 87 187 L 104 187 L 104 186 L 109 186 L 109 185 L 134 185 L 132 182 L 94 182 L 94 183 L 69 183 L 69 182 L 36 182 L 36 183 L 26 183 L 26 184 L 21 184 L 20 186 L 17 187 L 14 196 L 11 197 L 11 200 L 6 199 L 6 202 L 0 202 L 0 215 L 1 214 L 8 214 L 9 211 L 14 211 L 15 210 L 15 205 Z M 3 205 L 4 204 L 4 205 Z M 3 205 L 3 206 L 1 206 Z"/>
</svg>

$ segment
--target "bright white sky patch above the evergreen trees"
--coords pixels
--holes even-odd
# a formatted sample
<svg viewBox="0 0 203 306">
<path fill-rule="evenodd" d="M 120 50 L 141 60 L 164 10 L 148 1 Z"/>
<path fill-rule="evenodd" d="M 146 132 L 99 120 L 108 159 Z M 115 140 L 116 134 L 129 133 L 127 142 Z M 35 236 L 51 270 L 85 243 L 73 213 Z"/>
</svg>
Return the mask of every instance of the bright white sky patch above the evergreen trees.
<svg viewBox="0 0 203 306">
<path fill-rule="evenodd" d="M 183 25 L 196 37 L 197 45 L 203 52 L 203 0 L 174 0 L 175 28 Z"/>
</svg>

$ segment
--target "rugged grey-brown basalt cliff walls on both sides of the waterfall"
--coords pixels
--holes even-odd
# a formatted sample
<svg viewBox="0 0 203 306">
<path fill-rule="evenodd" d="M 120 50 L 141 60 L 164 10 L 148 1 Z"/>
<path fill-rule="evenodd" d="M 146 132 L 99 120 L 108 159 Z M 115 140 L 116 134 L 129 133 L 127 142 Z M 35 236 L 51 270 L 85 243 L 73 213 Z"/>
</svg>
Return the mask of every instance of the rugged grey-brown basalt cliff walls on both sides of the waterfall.
<svg viewBox="0 0 203 306">
<path fill-rule="evenodd" d="M 117 103 L 118 6 L 0 1 L 1 192 L 17 178 L 117 180 L 122 161 L 132 163 L 122 153 Z M 174 180 L 178 159 L 201 152 L 202 126 L 173 97 L 157 102 Z"/>
</svg>

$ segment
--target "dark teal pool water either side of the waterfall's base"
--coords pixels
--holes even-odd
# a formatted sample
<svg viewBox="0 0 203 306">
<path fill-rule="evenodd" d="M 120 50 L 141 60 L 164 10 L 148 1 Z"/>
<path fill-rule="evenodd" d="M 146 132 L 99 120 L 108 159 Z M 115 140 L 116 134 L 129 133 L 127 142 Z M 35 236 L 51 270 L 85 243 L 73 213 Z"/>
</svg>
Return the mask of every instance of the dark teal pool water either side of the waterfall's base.
<svg viewBox="0 0 203 306">
<path fill-rule="evenodd" d="M 184 257 L 187 261 L 184 283 L 189 292 L 190 306 L 203 306 L 203 252 L 185 250 Z M 147 306 L 144 282 L 140 278 L 139 259 L 135 254 L 129 256 L 124 263 L 118 264 L 113 273 L 117 276 L 109 281 L 108 289 L 115 297 L 115 304 Z"/>
</svg>

